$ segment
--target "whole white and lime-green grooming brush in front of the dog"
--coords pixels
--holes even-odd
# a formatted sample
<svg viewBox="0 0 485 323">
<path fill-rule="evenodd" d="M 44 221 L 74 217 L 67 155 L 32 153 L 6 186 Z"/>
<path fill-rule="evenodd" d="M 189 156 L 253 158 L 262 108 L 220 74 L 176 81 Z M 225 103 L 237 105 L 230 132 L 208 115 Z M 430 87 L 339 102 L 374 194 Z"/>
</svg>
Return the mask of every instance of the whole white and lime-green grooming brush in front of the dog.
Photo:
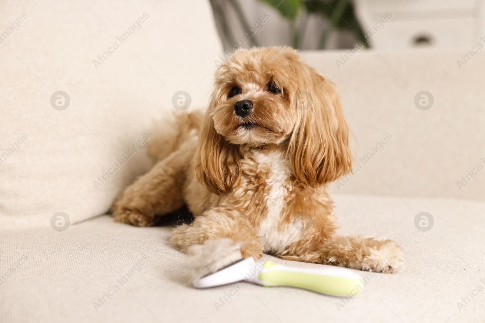
<svg viewBox="0 0 485 323">
<path fill-rule="evenodd" d="M 195 288 L 209 288 L 237 281 L 262 286 L 290 286 L 335 296 L 355 296 L 364 284 L 358 274 L 341 267 L 294 268 L 273 261 L 256 262 L 253 257 L 194 281 Z"/>
</svg>

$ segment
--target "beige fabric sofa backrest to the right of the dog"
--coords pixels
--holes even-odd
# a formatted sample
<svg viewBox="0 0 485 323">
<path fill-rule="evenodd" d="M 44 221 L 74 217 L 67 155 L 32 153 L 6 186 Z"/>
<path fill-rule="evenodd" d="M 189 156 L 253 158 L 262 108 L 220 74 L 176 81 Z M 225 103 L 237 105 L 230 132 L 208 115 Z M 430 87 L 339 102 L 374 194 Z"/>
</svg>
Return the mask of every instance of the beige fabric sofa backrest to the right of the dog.
<svg viewBox="0 0 485 323">
<path fill-rule="evenodd" d="M 354 175 L 333 184 L 335 191 L 485 199 L 485 176 L 478 170 L 485 168 L 485 56 L 458 64 L 466 52 L 361 49 L 354 54 L 304 54 L 307 63 L 337 84 L 356 138 Z M 431 95 L 422 97 L 422 91 Z M 420 100 L 428 106 L 421 107 Z"/>
</svg>

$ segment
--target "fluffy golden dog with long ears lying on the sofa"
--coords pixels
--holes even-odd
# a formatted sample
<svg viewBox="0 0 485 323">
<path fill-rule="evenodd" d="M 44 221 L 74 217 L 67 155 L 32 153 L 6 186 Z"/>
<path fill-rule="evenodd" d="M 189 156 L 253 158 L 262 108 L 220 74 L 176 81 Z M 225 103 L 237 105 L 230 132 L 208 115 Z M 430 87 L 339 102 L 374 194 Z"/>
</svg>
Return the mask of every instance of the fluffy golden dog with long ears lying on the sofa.
<svg viewBox="0 0 485 323">
<path fill-rule="evenodd" d="M 172 243 L 207 271 L 277 257 L 392 273 L 391 240 L 339 236 L 328 183 L 347 174 L 349 127 L 335 85 L 290 47 L 239 50 L 215 74 L 205 116 L 181 113 L 159 162 L 116 200 L 116 221 L 149 226 L 184 204 Z M 216 256 L 214 258 L 214 256 Z"/>
</svg>

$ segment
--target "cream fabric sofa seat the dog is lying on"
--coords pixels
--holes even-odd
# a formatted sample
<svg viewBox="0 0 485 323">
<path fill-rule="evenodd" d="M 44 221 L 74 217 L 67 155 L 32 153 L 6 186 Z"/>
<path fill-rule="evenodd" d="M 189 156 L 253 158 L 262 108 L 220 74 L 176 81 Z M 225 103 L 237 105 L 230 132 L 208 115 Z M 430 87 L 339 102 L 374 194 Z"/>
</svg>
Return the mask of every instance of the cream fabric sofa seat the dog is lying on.
<svg viewBox="0 0 485 323">
<path fill-rule="evenodd" d="M 345 303 L 306 290 L 249 283 L 196 290 L 188 283 L 187 256 L 168 243 L 168 227 L 137 228 L 102 216 L 64 232 L 1 231 L 0 275 L 27 257 L 0 286 L 1 321 L 483 321 L 485 290 L 476 290 L 485 286 L 484 202 L 449 200 L 439 207 L 439 199 L 407 199 L 408 207 L 397 197 L 335 195 L 334 200 L 342 234 L 385 235 L 403 244 L 406 257 L 401 273 L 356 271 L 367 277 L 366 286 Z M 422 210 L 435 218 L 427 232 L 413 224 Z M 297 267 L 322 266 L 269 259 Z M 130 270 L 132 275 L 123 279 Z M 473 298 L 468 296 L 472 292 Z M 102 304 L 98 297 L 104 293 L 112 296 L 105 296 Z M 467 296 L 468 305 L 458 308 L 457 302 Z"/>
</svg>

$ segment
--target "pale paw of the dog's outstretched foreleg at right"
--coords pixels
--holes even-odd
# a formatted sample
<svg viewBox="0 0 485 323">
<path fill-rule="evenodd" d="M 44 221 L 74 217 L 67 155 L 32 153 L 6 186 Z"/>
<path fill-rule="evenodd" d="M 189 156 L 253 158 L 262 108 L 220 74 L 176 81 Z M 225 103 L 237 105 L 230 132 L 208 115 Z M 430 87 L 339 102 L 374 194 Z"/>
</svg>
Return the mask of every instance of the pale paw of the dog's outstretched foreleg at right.
<svg viewBox="0 0 485 323">
<path fill-rule="evenodd" d="M 370 246 L 359 268 L 361 270 L 377 273 L 392 274 L 404 268 L 404 252 L 394 241 L 375 241 L 375 246 Z"/>
</svg>

